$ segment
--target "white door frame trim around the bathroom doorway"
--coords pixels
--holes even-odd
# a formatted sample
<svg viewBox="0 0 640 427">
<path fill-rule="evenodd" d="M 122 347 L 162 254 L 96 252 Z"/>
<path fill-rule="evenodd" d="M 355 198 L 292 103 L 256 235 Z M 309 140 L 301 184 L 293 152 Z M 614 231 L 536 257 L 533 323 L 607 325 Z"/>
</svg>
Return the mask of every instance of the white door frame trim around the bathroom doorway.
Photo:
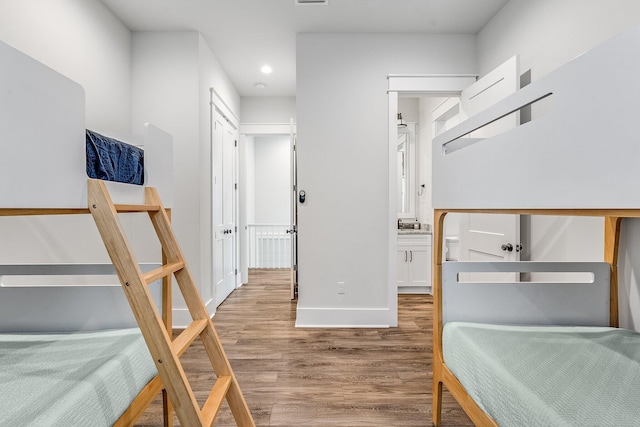
<svg viewBox="0 0 640 427">
<path fill-rule="evenodd" d="M 387 282 L 389 301 L 389 326 L 398 325 L 398 208 L 397 208 L 397 118 L 400 94 L 417 96 L 460 96 L 462 90 L 477 79 L 476 74 L 389 74 L 387 76 L 389 99 L 389 253 Z M 434 251 L 435 252 L 435 251 Z"/>
</svg>

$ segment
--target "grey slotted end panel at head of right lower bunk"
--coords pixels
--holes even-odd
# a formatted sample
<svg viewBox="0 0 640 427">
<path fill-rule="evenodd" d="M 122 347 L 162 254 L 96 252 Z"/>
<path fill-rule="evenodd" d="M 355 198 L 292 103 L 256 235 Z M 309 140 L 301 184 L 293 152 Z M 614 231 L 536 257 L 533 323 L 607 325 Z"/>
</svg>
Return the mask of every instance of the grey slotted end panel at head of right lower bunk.
<svg viewBox="0 0 640 427">
<path fill-rule="evenodd" d="M 496 282 L 505 273 L 516 280 Z M 443 262 L 443 323 L 608 326 L 609 279 L 606 262 Z"/>
</svg>

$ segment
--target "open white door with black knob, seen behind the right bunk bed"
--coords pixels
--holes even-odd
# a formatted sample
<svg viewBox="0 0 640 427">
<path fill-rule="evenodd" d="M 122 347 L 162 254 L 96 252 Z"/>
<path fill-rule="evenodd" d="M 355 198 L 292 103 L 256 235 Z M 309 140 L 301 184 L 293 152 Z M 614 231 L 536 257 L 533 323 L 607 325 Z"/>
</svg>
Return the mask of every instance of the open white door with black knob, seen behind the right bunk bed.
<svg viewBox="0 0 640 427">
<path fill-rule="evenodd" d="M 514 56 L 462 91 L 461 110 L 471 117 L 519 88 L 518 57 Z M 519 124 L 519 114 L 495 121 L 477 131 L 474 138 L 488 138 Z M 487 166 L 490 167 L 490 166 Z M 500 183 L 495 183 L 500 191 Z M 460 217 L 461 261 L 517 261 L 520 255 L 520 216 L 463 214 Z M 478 281 L 515 281 L 516 273 L 496 273 L 494 277 L 467 277 Z"/>
</svg>

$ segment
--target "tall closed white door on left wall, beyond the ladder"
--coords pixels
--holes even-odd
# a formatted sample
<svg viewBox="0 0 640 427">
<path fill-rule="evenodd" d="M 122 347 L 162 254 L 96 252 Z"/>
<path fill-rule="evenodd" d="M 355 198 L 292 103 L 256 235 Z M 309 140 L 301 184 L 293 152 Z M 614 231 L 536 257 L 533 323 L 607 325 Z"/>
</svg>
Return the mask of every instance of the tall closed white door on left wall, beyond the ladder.
<svg viewBox="0 0 640 427">
<path fill-rule="evenodd" d="M 213 110 L 213 230 L 216 306 L 236 288 L 235 150 L 237 130 Z"/>
</svg>

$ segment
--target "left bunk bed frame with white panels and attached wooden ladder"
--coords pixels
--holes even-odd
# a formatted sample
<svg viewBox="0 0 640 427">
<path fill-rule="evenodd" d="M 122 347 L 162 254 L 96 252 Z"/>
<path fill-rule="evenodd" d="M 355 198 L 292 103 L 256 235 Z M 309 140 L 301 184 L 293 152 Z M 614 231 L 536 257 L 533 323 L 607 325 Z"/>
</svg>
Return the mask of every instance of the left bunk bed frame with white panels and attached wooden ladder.
<svg viewBox="0 0 640 427">
<path fill-rule="evenodd" d="M 4 265 L 0 266 L 0 275 L 117 273 L 135 317 L 134 325 L 144 336 L 158 375 L 140 391 L 115 425 L 133 425 L 163 390 L 165 425 L 173 424 L 172 410 L 182 425 L 211 425 L 226 398 L 238 425 L 254 426 L 170 226 L 173 193 L 171 136 L 152 125 L 145 125 L 141 139 L 118 137 L 124 142 L 143 146 L 144 186 L 90 180 L 85 170 L 83 88 L 2 42 L 0 63 L 0 217 L 91 214 L 113 262 L 108 266 Z M 166 208 L 161 200 L 167 203 Z M 145 267 L 137 263 L 118 220 L 121 212 L 148 213 L 162 246 L 163 264 Z M 149 271 L 150 268 L 153 269 Z M 171 322 L 172 276 L 176 278 L 194 319 L 175 339 L 172 338 Z M 149 285 L 159 281 L 162 283 L 161 297 L 160 301 L 154 301 Z M 66 299 L 78 289 L 85 295 L 93 293 L 98 298 L 105 292 L 112 294 L 111 290 L 95 285 L 88 288 L 12 289 L 0 286 L 0 294 L 22 293 L 17 301 L 34 301 L 42 297 L 51 304 L 52 300 Z M 68 304 L 70 310 L 77 301 L 75 299 Z M 161 303 L 159 312 L 158 303 Z M 26 325 L 21 330 L 31 325 L 39 332 L 43 331 L 41 322 L 30 320 Z M 64 320 L 51 327 L 53 331 L 74 329 L 73 324 L 66 325 Z M 179 361 L 179 356 L 196 338 L 202 339 L 217 377 L 202 408 L 195 400 Z"/>
</svg>

